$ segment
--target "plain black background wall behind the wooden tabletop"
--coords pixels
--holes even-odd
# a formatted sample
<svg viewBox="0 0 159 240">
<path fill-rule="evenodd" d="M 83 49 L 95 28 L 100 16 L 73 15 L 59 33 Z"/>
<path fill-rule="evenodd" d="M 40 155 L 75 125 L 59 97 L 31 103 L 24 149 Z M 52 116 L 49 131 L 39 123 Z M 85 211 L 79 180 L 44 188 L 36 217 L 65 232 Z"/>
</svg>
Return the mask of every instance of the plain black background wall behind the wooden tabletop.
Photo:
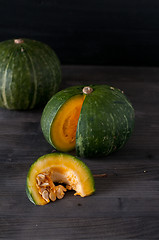
<svg viewBox="0 0 159 240">
<path fill-rule="evenodd" d="M 0 41 L 49 44 L 62 64 L 159 65 L 159 1 L 0 0 Z"/>
</svg>

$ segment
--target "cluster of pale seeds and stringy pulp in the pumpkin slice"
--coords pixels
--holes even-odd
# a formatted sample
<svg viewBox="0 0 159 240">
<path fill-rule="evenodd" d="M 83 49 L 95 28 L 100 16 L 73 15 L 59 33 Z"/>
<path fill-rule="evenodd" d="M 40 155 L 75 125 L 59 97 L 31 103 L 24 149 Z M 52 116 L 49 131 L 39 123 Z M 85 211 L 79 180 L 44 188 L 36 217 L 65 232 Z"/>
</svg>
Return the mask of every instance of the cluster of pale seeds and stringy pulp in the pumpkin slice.
<svg viewBox="0 0 159 240">
<path fill-rule="evenodd" d="M 36 177 L 36 186 L 38 188 L 39 194 L 46 202 L 56 201 L 56 199 L 62 199 L 67 190 L 72 190 L 70 185 L 57 185 L 53 183 L 51 179 L 51 173 L 40 173 Z"/>
</svg>

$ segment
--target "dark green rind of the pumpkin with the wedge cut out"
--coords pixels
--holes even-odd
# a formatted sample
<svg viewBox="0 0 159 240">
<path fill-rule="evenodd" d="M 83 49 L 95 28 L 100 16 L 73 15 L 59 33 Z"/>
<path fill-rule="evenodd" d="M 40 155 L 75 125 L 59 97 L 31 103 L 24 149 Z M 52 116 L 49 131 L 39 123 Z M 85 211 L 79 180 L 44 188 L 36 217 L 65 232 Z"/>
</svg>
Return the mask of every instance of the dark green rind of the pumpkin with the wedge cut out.
<svg viewBox="0 0 159 240">
<path fill-rule="evenodd" d="M 108 85 L 90 85 L 82 105 L 76 130 L 76 154 L 92 158 L 107 156 L 122 148 L 134 128 L 134 109 L 125 94 Z M 46 140 L 51 141 L 50 129 L 60 107 L 74 95 L 83 94 L 84 86 L 64 89 L 55 94 L 44 108 L 41 127 Z"/>
</svg>

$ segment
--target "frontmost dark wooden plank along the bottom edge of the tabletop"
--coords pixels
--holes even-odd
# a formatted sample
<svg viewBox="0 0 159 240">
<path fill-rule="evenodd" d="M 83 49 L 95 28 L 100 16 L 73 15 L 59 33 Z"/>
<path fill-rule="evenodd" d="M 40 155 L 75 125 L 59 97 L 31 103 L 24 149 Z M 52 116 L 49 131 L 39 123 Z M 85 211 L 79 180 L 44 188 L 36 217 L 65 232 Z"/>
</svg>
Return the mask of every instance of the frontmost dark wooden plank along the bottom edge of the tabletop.
<svg viewBox="0 0 159 240">
<path fill-rule="evenodd" d="M 35 213 L 34 213 L 35 214 Z M 8 239 L 158 239 L 159 220 L 155 217 L 138 218 L 37 218 L 15 216 L 7 219 L 1 229 Z M 3 221 L 3 220 L 2 220 Z M 1 223 L 1 222 L 0 222 Z M 8 229 L 12 225 L 12 231 Z M 23 229 L 23 231 L 22 231 Z M 52 231 L 50 231 L 52 229 Z M 125 236 L 125 232 L 127 235 Z M 152 236 L 156 233 L 155 238 Z M 53 233 L 53 234 L 52 234 Z"/>
</svg>

